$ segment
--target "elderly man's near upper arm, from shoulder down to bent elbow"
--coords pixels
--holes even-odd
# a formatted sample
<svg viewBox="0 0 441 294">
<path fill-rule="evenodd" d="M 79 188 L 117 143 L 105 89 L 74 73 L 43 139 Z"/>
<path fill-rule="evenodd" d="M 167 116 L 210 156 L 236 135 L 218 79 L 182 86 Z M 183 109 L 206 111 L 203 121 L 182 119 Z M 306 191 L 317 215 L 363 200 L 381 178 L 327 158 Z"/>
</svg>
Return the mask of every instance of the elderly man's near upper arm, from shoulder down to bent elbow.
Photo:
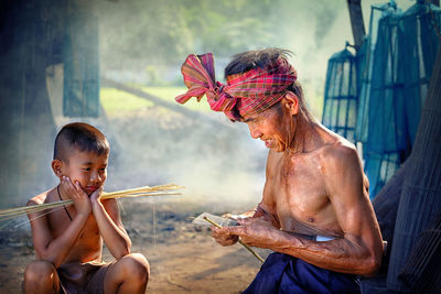
<svg viewBox="0 0 441 294">
<path fill-rule="evenodd" d="M 337 243 L 344 250 L 343 262 L 335 260 L 330 263 L 344 272 L 373 274 L 380 266 L 384 248 L 367 184 L 364 185 L 361 160 L 355 149 L 347 146 L 330 149 L 323 170 L 325 188 L 344 232 L 344 239 Z M 337 252 L 331 248 L 331 252 L 333 250 Z"/>
</svg>

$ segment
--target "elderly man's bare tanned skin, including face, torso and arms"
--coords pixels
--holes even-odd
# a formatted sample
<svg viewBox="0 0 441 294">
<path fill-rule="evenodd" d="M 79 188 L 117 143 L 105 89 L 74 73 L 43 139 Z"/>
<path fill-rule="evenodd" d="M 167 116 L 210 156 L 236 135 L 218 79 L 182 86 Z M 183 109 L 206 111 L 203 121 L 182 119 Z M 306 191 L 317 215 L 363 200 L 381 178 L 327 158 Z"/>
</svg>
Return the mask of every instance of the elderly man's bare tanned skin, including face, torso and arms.
<svg viewBox="0 0 441 294">
<path fill-rule="evenodd" d="M 212 228 L 222 246 L 243 242 L 327 270 L 374 274 L 383 240 L 354 145 L 312 121 L 291 92 L 244 121 L 270 149 L 262 200 L 237 227 Z M 316 242 L 294 233 L 335 238 Z"/>
</svg>

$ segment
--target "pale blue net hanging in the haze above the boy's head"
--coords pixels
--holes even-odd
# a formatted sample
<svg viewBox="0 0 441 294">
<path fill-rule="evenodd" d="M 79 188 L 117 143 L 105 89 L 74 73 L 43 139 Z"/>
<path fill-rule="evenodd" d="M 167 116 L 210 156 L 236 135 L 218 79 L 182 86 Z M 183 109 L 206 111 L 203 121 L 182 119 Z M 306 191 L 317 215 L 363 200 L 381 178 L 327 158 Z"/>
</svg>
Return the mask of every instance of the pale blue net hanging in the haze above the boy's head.
<svg viewBox="0 0 441 294">
<path fill-rule="evenodd" d="M 90 12 L 77 12 L 67 18 L 63 63 L 64 116 L 98 117 L 98 20 Z"/>
</svg>

